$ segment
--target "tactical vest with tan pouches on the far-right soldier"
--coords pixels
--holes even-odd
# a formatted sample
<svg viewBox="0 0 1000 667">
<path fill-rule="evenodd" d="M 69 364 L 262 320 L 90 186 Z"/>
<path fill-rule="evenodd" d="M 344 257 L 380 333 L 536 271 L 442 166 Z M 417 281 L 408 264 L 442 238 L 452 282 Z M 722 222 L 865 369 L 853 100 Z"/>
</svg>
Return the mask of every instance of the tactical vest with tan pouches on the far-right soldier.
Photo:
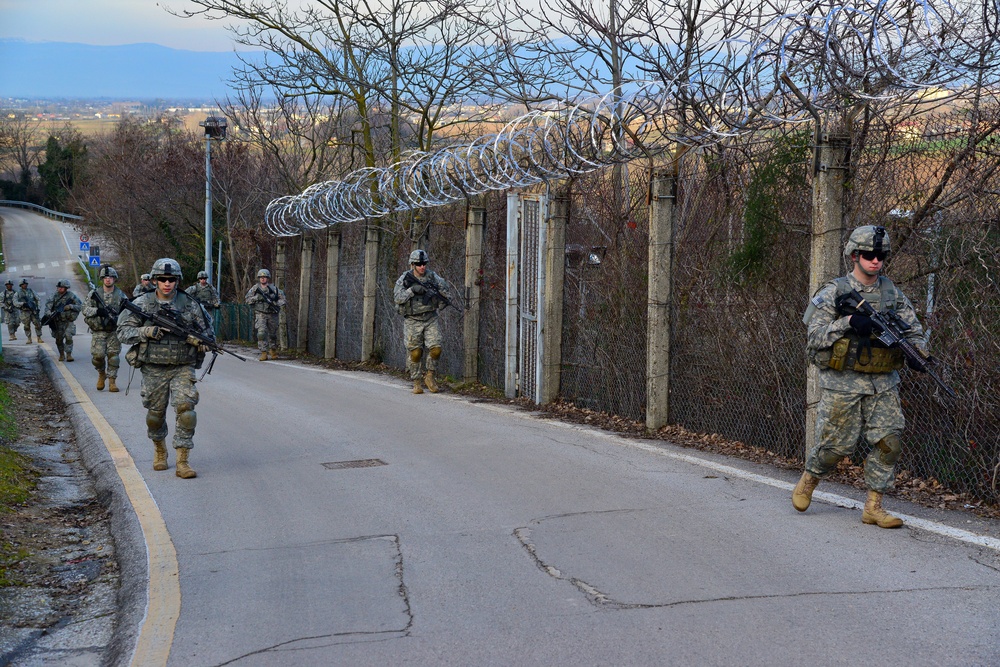
<svg viewBox="0 0 1000 667">
<path fill-rule="evenodd" d="M 832 281 L 836 285 L 837 297 L 849 294 L 851 281 L 846 276 Z M 881 312 L 896 310 L 900 293 L 896 285 L 886 277 L 879 281 L 878 301 L 865 299 L 872 308 Z M 891 373 L 905 365 L 903 351 L 899 348 L 887 348 L 875 336 L 862 338 L 853 329 L 834 341 L 829 349 L 817 350 L 812 354 L 812 361 L 820 368 L 832 368 L 836 371 L 850 370 L 857 373 Z"/>
</svg>

